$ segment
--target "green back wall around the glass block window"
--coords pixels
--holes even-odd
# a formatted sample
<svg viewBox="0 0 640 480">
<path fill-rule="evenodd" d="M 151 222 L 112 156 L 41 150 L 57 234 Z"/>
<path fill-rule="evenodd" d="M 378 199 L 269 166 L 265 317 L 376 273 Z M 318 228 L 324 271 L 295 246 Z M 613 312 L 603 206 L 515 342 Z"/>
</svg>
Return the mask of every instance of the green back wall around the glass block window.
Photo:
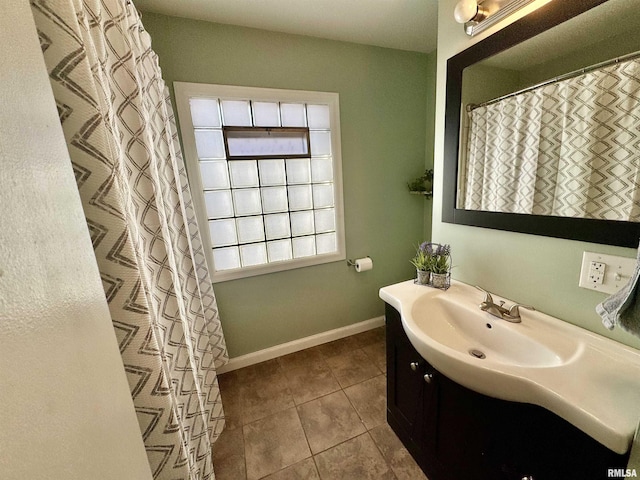
<svg viewBox="0 0 640 480">
<path fill-rule="evenodd" d="M 232 357 L 383 315 L 378 289 L 411 278 L 429 201 L 406 182 L 429 164 L 435 54 L 144 13 L 165 81 L 340 94 L 346 262 L 215 284 Z M 432 129 L 429 129 L 432 131 Z M 429 142 L 431 142 L 429 144 Z"/>
</svg>

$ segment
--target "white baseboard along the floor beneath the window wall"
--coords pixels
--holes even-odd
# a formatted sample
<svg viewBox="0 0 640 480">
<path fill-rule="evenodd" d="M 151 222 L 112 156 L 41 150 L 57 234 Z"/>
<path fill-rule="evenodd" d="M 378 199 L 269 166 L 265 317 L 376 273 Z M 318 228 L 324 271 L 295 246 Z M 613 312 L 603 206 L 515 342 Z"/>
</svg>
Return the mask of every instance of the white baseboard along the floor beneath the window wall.
<svg viewBox="0 0 640 480">
<path fill-rule="evenodd" d="M 347 325 L 346 327 L 336 328 L 334 330 L 328 330 L 326 332 L 317 333 L 310 337 L 300 338 L 293 340 L 292 342 L 282 343 L 273 347 L 265 348 L 264 350 L 258 350 L 257 352 L 247 353 L 239 357 L 234 357 L 229 360 L 229 363 L 220 367 L 218 373 L 227 373 L 239 368 L 248 367 L 249 365 L 255 365 L 256 363 L 265 362 L 272 358 L 281 357 L 282 355 L 288 355 L 289 353 L 298 352 L 305 348 L 315 347 L 322 345 L 323 343 L 339 340 L 344 337 L 355 335 L 356 333 L 366 332 L 384 325 L 384 316 L 376 317 L 364 322 L 354 323 L 353 325 Z"/>
</svg>

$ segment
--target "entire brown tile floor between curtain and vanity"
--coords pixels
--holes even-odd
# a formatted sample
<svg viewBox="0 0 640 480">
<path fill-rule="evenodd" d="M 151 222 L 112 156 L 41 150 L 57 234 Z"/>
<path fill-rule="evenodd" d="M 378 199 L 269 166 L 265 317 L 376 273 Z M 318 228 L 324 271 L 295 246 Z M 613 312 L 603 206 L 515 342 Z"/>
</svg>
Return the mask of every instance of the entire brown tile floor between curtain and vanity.
<svg viewBox="0 0 640 480">
<path fill-rule="evenodd" d="M 220 375 L 217 480 L 425 480 L 386 423 L 380 327 Z"/>
</svg>

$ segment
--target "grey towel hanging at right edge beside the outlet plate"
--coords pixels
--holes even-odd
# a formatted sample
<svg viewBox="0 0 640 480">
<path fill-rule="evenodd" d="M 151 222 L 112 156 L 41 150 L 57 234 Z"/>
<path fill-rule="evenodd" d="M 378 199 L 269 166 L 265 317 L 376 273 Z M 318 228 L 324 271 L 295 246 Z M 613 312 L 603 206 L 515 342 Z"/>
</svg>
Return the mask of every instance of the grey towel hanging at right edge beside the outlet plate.
<svg viewBox="0 0 640 480">
<path fill-rule="evenodd" d="M 629 282 L 622 289 L 596 305 L 596 312 L 609 330 L 616 325 L 640 337 L 640 248 L 636 268 Z"/>
</svg>

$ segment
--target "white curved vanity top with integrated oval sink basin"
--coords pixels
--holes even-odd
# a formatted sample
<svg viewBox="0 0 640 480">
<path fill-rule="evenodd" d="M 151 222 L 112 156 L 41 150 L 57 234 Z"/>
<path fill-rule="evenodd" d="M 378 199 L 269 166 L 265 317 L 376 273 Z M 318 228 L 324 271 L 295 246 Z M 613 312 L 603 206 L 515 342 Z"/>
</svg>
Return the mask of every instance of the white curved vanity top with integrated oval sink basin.
<svg viewBox="0 0 640 480">
<path fill-rule="evenodd" d="M 617 453 L 629 449 L 640 421 L 640 351 L 538 311 L 521 309 L 521 323 L 498 319 L 480 310 L 482 292 L 456 281 L 446 292 L 403 282 L 380 289 L 380 298 L 447 377 L 540 405 Z"/>
</svg>

